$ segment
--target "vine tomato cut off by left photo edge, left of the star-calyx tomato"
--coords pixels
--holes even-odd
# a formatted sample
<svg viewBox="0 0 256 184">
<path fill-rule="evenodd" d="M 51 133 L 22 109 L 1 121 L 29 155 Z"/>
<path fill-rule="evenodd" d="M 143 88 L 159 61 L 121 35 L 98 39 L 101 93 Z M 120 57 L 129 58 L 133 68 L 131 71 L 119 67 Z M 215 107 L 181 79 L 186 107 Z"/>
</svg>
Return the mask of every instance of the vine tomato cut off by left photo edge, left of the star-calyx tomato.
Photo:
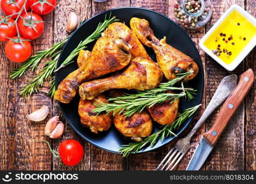
<svg viewBox="0 0 256 184">
<path fill-rule="evenodd" d="M 14 37 L 17 34 L 17 30 L 14 25 L 13 18 L 0 17 L 0 41 L 7 41 L 6 37 Z"/>
</svg>

